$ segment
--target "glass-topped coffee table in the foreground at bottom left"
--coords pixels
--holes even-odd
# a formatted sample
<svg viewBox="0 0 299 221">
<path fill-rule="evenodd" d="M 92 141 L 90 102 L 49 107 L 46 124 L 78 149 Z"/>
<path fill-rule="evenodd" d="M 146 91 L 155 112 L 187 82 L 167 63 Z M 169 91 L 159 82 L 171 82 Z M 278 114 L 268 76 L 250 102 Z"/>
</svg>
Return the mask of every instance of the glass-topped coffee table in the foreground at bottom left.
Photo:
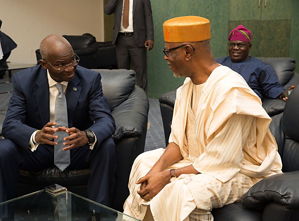
<svg viewBox="0 0 299 221">
<path fill-rule="evenodd" d="M 0 220 L 138 220 L 67 190 L 47 191 L 0 203 Z"/>
</svg>

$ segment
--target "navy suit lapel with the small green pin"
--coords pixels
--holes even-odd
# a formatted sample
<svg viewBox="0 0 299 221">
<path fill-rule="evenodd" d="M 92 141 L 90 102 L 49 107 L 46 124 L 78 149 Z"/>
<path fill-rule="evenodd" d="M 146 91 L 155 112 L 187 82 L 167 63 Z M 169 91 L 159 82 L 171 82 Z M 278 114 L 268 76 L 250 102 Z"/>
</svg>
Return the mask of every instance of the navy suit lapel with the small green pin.
<svg viewBox="0 0 299 221">
<path fill-rule="evenodd" d="M 68 87 L 66 89 L 66 105 L 68 108 L 68 127 L 73 127 L 74 114 L 79 100 L 82 87 L 78 86 L 80 80 L 75 73 L 74 79 L 68 82 Z"/>
</svg>

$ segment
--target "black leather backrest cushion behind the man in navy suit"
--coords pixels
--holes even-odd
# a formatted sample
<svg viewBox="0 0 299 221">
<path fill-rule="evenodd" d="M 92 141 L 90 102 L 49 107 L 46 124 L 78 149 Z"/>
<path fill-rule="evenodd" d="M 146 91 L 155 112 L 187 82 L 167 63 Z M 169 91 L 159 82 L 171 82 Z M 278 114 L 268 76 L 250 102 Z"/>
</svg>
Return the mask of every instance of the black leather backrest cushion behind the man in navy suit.
<svg viewBox="0 0 299 221">
<path fill-rule="evenodd" d="M 110 110 L 128 99 L 135 87 L 135 71 L 126 69 L 92 69 L 102 76 L 103 93 L 107 97 Z"/>
</svg>

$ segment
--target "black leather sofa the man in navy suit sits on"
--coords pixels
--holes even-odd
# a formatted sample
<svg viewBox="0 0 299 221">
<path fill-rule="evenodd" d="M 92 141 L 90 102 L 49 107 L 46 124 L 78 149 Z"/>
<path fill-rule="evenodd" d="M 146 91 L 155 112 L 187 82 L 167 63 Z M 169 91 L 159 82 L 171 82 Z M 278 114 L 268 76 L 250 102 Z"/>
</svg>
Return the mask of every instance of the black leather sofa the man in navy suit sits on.
<svg viewBox="0 0 299 221">
<path fill-rule="evenodd" d="M 103 93 L 107 97 L 116 132 L 112 136 L 116 145 L 115 191 L 112 208 L 123 211 L 123 203 L 129 196 L 128 182 L 135 158 L 144 152 L 147 133 L 149 101 L 146 93 L 135 86 L 133 70 L 96 70 L 102 76 Z M 0 135 L 7 105 L 0 107 Z M 1 147 L 0 147 L 1 148 Z M 57 167 L 32 173 L 20 170 L 18 196 L 43 189 L 50 184 L 60 184 L 69 191 L 87 197 L 90 169 L 63 172 Z"/>
</svg>

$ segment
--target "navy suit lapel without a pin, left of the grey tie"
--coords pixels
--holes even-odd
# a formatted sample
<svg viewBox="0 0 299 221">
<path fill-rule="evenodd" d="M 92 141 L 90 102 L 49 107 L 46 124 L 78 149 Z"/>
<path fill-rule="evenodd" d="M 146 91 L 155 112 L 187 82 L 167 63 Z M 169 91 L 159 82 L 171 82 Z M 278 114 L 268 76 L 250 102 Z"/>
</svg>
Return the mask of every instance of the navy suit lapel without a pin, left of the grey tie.
<svg viewBox="0 0 299 221">
<path fill-rule="evenodd" d="M 42 68 L 39 72 L 35 84 L 38 87 L 33 89 L 34 95 L 42 125 L 44 126 L 50 121 L 49 83 L 46 69 Z"/>
</svg>

